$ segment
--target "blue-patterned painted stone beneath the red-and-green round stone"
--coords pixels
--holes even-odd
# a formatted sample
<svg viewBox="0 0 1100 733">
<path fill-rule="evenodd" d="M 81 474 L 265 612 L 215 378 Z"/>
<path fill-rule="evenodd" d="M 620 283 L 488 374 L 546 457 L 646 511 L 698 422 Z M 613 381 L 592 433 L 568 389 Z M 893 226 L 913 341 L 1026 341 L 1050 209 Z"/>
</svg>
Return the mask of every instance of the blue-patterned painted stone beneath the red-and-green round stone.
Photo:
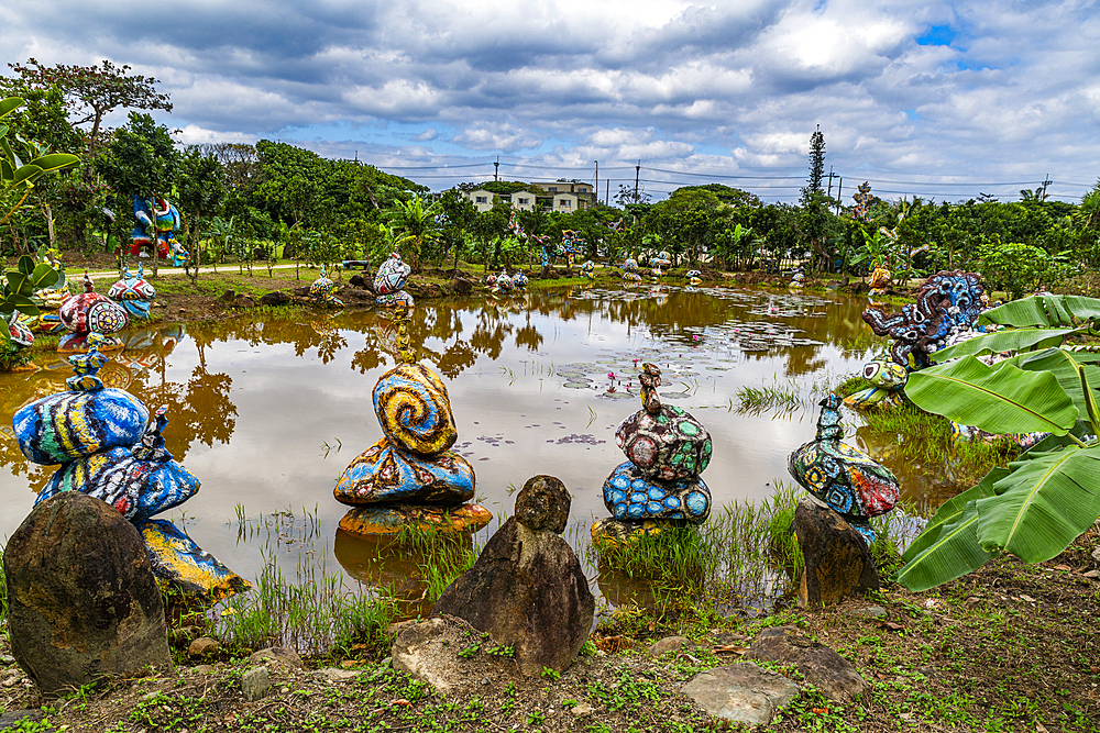
<svg viewBox="0 0 1100 733">
<path fill-rule="evenodd" d="M 682 519 L 686 511 L 698 523 L 711 513 L 711 491 L 701 478 L 652 480 L 629 460 L 616 466 L 603 491 L 604 506 L 616 519 Z"/>
</svg>

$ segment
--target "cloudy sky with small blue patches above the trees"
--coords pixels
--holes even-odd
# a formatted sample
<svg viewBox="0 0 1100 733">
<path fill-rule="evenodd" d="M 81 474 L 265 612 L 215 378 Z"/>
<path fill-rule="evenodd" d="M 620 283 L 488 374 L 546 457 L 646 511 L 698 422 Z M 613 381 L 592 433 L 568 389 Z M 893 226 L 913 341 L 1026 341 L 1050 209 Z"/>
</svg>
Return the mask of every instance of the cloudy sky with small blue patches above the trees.
<svg viewBox="0 0 1100 733">
<path fill-rule="evenodd" d="M 1014 200 L 1047 174 L 1079 200 L 1100 177 L 1089 0 L 2 0 L 0 47 L 155 76 L 186 143 L 277 138 L 436 190 L 499 157 L 521 180 L 598 160 L 614 196 L 640 159 L 656 198 L 791 201 L 817 124 L 846 200 Z"/>
</svg>

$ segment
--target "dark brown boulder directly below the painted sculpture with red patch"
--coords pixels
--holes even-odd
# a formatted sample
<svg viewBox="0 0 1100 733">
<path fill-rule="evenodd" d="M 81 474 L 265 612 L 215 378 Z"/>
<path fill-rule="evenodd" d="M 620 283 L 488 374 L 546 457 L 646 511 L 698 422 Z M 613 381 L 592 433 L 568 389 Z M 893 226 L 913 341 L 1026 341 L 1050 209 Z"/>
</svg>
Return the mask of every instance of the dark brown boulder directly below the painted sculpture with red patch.
<svg viewBox="0 0 1100 733">
<path fill-rule="evenodd" d="M 862 535 L 828 507 L 803 499 L 794 533 L 805 558 L 799 606 L 826 606 L 879 589 L 879 574 Z"/>
</svg>

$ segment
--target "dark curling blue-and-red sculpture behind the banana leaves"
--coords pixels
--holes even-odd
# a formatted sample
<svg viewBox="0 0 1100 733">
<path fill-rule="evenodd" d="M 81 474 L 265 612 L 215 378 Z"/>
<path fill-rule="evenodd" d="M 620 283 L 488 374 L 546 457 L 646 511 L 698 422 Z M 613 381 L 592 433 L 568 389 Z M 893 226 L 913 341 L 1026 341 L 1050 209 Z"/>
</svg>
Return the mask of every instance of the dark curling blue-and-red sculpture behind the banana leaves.
<svg viewBox="0 0 1100 733">
<path fill-rule="evenodd" d="M 974 273 L 941 271 L 930 277 L 916 292 L 916 302 L 902 307 L 900 313 L 887 314 L 880 308 L 864 311 L 864 321 L 877 336 L 894 340 L 890 356 L 897 364 L 923 369 L 932 364 L 931 354 L 943 348 L 959 331 L 974 327 L 985 308 L 985 288 Z"/>
</svg>

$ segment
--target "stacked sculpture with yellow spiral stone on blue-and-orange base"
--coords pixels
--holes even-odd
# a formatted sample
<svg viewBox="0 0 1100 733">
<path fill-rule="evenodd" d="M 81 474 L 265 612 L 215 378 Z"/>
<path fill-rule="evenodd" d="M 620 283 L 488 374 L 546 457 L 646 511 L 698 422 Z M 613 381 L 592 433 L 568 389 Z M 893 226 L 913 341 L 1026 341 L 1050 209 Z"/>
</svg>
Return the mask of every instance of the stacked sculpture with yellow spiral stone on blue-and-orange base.
<svg viewBox="0 0 1100 733">
<path fill-rule="evenodd" d="M 408 343 L 408 311 L 398 303 L 399 364 L 374 386 L 374 412 L 384 436 L 351 462 L 337 480 L 337 501 L 355 507 L 340 521 L 352 534 L 372 536 L 411 527 L 465 532 L 492 514 L 466 503 L 474 469 L 449 448 L 458 438 L 447 387 L 416 363 Z"/>
</svg>

